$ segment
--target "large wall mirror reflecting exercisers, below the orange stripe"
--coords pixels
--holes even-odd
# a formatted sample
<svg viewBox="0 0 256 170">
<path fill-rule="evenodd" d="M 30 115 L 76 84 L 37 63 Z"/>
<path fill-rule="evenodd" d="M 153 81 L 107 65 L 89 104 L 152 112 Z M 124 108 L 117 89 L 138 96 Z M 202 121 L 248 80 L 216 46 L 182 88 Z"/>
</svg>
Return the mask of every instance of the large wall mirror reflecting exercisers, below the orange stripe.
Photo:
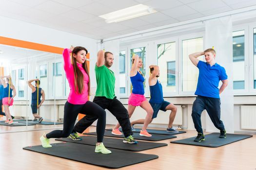
<svg viewBox="0 0 256 170">
<path fill-rule="evenodd" d="M 61 128 L 68 90 L 60 54 L 0 45 L 0 133 Z"/>
</svg>

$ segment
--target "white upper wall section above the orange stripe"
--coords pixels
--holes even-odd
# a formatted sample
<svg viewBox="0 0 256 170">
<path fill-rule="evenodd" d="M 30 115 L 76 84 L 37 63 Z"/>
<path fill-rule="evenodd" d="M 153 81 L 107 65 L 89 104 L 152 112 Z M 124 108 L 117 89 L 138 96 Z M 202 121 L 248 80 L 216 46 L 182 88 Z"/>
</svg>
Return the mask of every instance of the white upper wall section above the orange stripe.
<svg viewBox="0 0 256 170">
<path fill-rule="evenodd" d="M 36 24 L 0 16 L 0 36 L 39 44 L 68 48 L 70 45 L 83 46 L 91 53 L 96 52 L 97 40 L 70 34 Z"/>
</svg>

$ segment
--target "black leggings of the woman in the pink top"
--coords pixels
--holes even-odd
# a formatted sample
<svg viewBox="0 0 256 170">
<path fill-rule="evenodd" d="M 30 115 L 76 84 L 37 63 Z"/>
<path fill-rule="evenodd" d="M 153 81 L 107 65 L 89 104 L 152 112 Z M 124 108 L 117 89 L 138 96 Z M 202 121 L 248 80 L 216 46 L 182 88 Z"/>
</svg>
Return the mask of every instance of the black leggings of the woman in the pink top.
<svg viewBox="0 0 256 170">
<path fill-rule="evenodd" d="M 46 137 L 68 137 L 73 132 L 73 128 L 79 113 L 96 116 L 98 118 L 96 129 L 97 142 L 102 142 L 106 128 L 106 112 L 100 106 L 90 101 L 86 102 L 85 104 L 71 104 L 66 102 L 64 107 L 63 130 L 52 131 L 46 134 Z"/>
</svg>

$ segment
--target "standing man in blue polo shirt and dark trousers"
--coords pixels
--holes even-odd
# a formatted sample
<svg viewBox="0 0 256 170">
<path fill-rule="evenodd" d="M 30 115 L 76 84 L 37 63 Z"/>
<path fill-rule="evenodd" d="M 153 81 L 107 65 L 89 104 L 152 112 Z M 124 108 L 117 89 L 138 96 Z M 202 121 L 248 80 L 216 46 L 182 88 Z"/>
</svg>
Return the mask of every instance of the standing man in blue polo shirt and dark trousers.
<svg viewBox="0 0 256 170">
<path fill-rule="evenodd" d="M 197 57 L 204 55 L 205 61 L 202 62 Z M 226 131 L 223 122 L 220 120 L 220 99 L 219 94 L 228 85 L 228 76 L 225 68 L 215 62 L 216 51 L 207 49 L 202 52 L 195 52 L 189 55 L 191 62 L 199 69 L 197 90 L 195 95 L 197 98 L 192 107 L 192 118 L 197 130 L 196 142 L 204 140 L 201 113 L 206 109 L 215 127 L 220 130 L 220 138 L 226 138 Z M 219 81 L 222 85 L 218 89 Z"/>
</svg>

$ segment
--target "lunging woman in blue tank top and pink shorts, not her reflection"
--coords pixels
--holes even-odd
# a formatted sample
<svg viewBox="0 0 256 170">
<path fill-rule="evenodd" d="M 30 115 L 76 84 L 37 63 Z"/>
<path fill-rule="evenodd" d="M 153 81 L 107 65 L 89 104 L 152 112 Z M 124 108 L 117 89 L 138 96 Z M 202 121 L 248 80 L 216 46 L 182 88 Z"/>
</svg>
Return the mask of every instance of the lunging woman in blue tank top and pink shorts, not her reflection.
<svg viewBox="0 0 256 170">
<path fill-rule="evenodd" d="M 142 59 L 138 57 L 138 55 L 134 56 L 133 58 L 133 66 L 131 68 L 130 71 L 130 78 L 131 78 L 131 82 L 132 82 L 132 86 L 133 86 L 133 90 L 132 93 L 129 97 L 129 101 L 128 101 L 128 113 L 129 113 L 129 118 L 131 118 L 136 106 L 140 106 L 141 108 L 143 108 L 146 112 L 147 112 L 147 116 L 143 120 L 143 127 L 139 133 L 140 136 L 147 136 L 147 137 L 151 137 L 152 135 L 150 135 L 147 132 L 147 127 L 148 124 L 151 121 L 152 115 L 153 115 L 153 109 L 150 105 L 150 103 L 146 100 L 145 96 L 144 96 L 144 85 L 143 82 L 145 81 L 144 77 L 142 76 L 142 73 L 140 72 L 140 69 L 143 66 L 142 63 Z M 136 124 L 141 124 L 139 123 L 140 119 L 138 120 L 138 122 L 136 122 Z M 119 123 L 115 126 L 115 128 L 112 130 L 112 134 L 114 135 L 122 135 L 122 133 L 118 130 L 118 128 L 120 127 Z"/>
</svg>

